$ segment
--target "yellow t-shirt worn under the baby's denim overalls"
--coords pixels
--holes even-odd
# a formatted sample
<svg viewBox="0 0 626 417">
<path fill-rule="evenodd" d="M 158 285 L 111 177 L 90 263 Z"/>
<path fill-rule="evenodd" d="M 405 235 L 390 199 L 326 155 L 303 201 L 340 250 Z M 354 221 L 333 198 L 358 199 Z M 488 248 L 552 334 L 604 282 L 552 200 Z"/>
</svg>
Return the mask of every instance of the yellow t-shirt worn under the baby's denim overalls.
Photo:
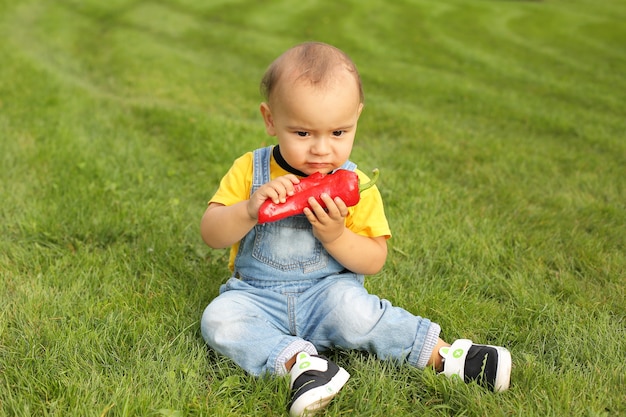
<svg viewBox="0 0 626 417">
<path fill-rule="evenodd" d="M 240 201 L 248 200 L 250 198 L 250 190 L 252 189 L 252 163 L 252 152 L 248 152 L 235 160 L 224 178 L 222 178 L 217 192 L 209 203 L 230 206 Z M 368 176 L 359 169 L 356 170 L 356 173 L 361 184 L 369 181 Z M 286 174 L 288 172 L 281 168 L 272 156 L 270 160 L 270 178 L 274 179 Z M 348 207 L 346 227 L 354 233 L 367 237 L 391 237 L 382 197 L 376 186 L 363 191 L 356 206 Z M 234 269 L 235 256 L 238 249 L 239 242 L 230 249 L 228 267 L 231 271 Z"/>
</svg>

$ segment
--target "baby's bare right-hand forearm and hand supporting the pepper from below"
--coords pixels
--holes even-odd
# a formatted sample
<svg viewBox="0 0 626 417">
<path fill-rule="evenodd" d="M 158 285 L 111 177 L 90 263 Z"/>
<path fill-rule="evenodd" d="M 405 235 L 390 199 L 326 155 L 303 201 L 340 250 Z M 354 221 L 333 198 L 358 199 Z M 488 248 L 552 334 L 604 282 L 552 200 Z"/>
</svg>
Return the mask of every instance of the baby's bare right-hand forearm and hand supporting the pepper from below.
<svg viewBox="0 0 626 417">
<path fill-rule="evenodd" d="M 387 239 L 384 236 L 367 237 L 354 233 L 345 226 L 348 207 L 340 198 L 323 194 L 326 210 L 309 199 L 310 209 L 304 209 L 313 225 L 313 234 L 328 253 L 352 272 L 372 275 L 379 272 L 387 259 Z"/>
</svg>

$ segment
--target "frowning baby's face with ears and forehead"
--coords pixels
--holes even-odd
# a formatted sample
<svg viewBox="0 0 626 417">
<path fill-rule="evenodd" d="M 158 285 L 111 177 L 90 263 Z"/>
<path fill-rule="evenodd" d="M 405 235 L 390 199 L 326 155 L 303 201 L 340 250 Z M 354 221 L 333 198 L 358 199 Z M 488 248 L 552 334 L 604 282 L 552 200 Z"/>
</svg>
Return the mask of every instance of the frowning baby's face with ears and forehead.
<svg viewBox="0 0 626 417">
<path fill-rule="evenodd" d="M 328 173 L 350 157 L 363 109 L 354 76 L 341 70 L 326 86 L 284 80 L 261 104 L 267 133 L 287 163 L 307 175 Z"/>
</svg>

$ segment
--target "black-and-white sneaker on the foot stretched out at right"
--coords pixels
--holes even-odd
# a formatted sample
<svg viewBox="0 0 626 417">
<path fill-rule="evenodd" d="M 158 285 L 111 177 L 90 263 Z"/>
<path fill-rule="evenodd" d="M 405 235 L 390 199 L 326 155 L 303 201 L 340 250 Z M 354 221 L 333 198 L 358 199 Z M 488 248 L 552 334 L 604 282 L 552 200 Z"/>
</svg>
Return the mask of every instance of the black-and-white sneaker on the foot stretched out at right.
<svg viewBox="0 0 626 417">
<path fill-rule="evenodd" d="M 439 349 L 443 374 L 476 381 L 493 391 L 506 391 L 511 382 L 511 353 L 500 346 L 476 345 L 459 339 L 452 346 Z"/>
</svg>

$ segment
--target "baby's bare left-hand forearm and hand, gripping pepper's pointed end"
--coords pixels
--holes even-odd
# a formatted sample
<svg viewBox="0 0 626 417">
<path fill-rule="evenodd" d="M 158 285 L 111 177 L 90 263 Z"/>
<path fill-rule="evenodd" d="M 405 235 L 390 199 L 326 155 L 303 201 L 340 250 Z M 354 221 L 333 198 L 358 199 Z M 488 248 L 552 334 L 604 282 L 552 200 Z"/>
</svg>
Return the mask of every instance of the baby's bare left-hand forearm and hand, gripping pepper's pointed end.
<svg viewBox="0 0 626 417">
<path fill-rule="evenodd" d="M 298 177 L 288 174 L 262 185 L 249 200 L 230 206 L 210 203 L 200 223 L 202 239 L 214 249 L 239 242 L 257 223 L 261 204 L 268 198 L 275 203 L 284 202 L 299 182 Z"/>
</svg>

